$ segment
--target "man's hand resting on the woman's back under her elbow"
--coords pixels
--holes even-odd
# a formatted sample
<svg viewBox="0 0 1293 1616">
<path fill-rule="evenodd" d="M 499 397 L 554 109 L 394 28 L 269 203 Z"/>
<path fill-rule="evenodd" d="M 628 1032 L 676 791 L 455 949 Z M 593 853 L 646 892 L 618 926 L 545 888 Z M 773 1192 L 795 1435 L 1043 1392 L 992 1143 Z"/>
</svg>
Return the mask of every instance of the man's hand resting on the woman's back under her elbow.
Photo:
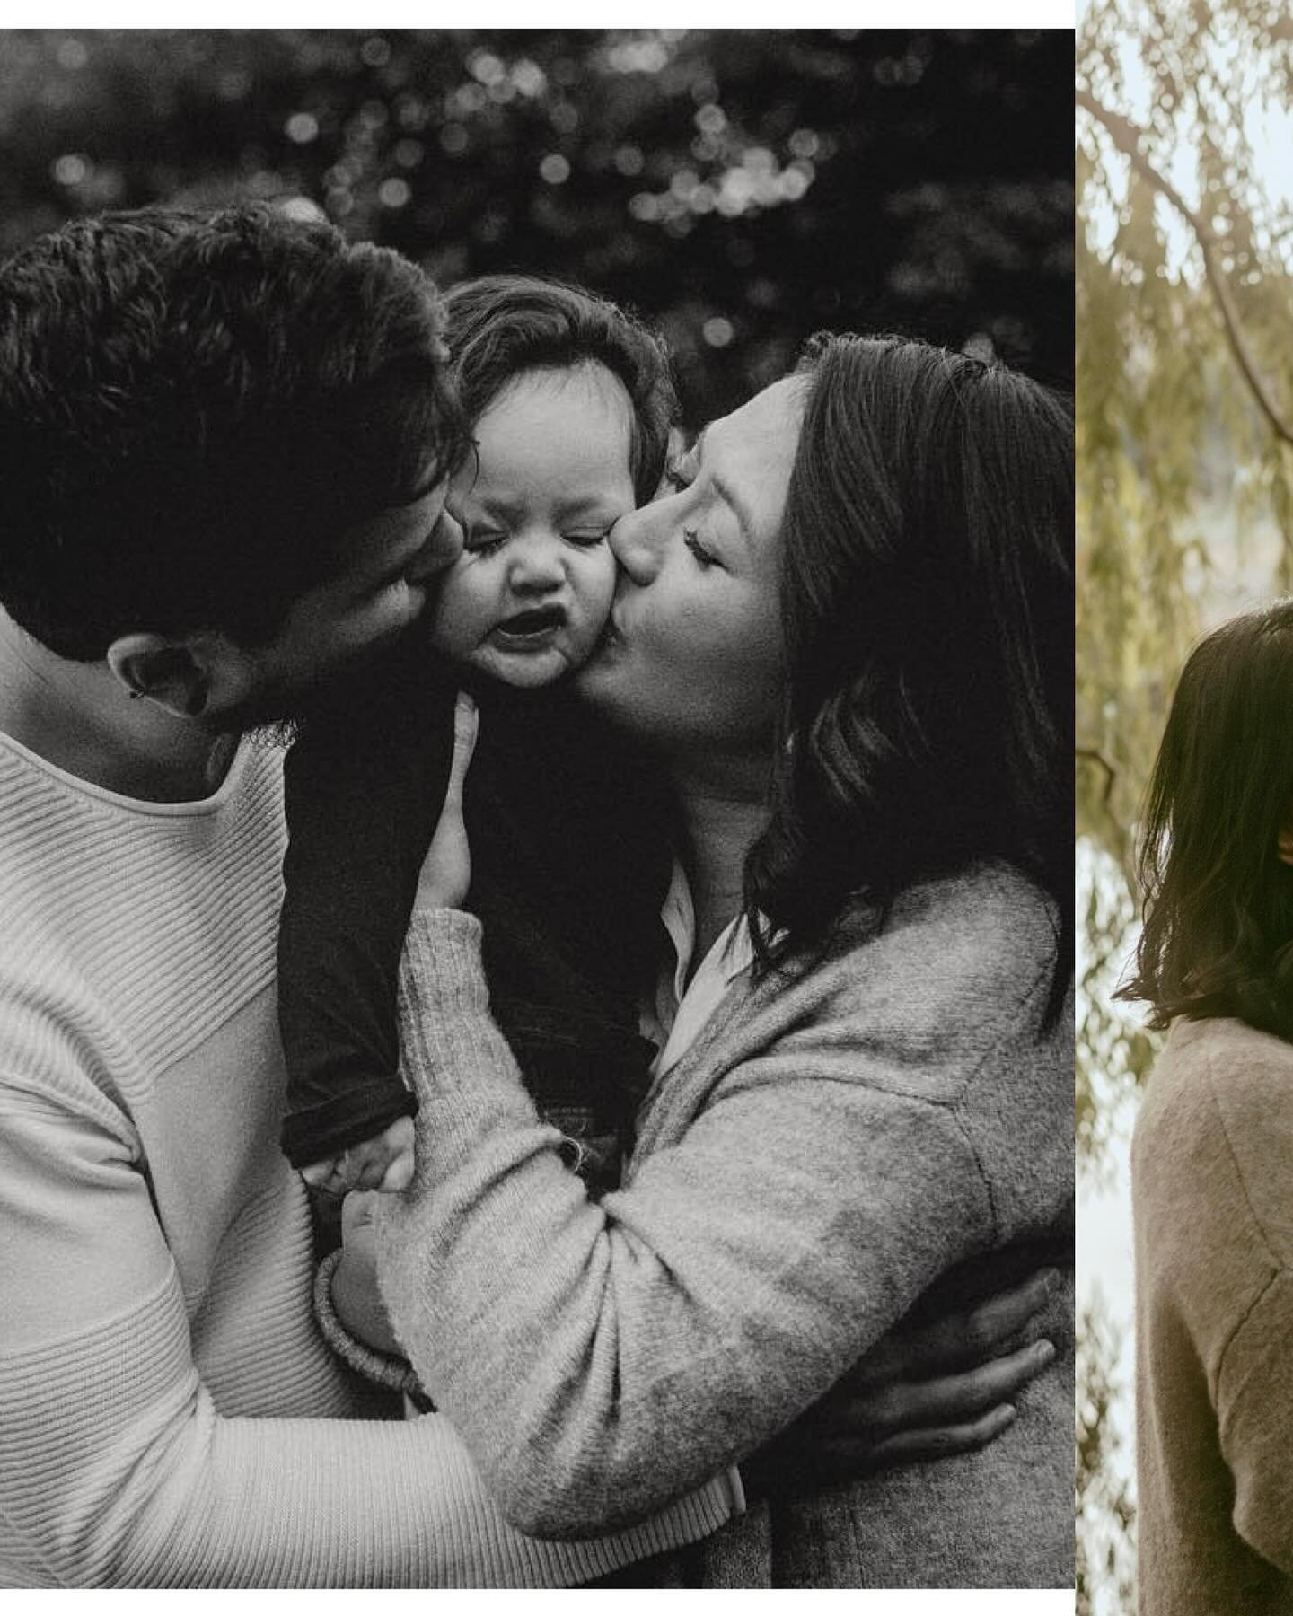
<svg viewBox="0 0 1293 1616">
<path fill-rule="evenodd" d="M 892 1330 L 794 1425 L 742 1461 L 752 1493 L 811 1492 L 986 1446 L 1055 1356 L 1044 1340 L 1004 1351 L 1055 1281 L 1047 1270 L 968 1312 Z"/>
</svg>

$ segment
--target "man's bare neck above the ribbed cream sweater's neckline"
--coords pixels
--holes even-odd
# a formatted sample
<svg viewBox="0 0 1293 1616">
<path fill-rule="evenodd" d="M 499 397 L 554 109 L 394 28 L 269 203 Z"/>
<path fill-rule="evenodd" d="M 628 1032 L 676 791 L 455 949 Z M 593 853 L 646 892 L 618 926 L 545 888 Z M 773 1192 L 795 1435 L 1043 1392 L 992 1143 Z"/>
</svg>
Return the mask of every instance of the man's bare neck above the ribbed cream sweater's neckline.
<svg viewBox="0 0 1293 1616">
<path fill-rule="evenodd" d="M 0 609 L 0 730 L 78 779 L 144 802 L 197 802 L 234 740 L 154 701 L 131 701 L 107 663 L 73 663 Z"/>
</svg>

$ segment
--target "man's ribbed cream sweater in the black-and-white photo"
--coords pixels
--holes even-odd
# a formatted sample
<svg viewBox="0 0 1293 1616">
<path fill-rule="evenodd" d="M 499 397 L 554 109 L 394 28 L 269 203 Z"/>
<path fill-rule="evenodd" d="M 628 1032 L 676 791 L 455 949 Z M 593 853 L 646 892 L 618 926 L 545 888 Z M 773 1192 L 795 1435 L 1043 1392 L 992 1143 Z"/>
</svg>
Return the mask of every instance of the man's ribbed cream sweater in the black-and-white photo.
<svg viewBox="0 0 1293 1616">
<path fill-rule="evenodd" d="M 509 1527 L 449 1422 L 357 1417 L 278 1154 L 281 760 L 141 803 L 0 735 L 0 1585 L 562 1585 L 690 1542 Z"/>
</svg>

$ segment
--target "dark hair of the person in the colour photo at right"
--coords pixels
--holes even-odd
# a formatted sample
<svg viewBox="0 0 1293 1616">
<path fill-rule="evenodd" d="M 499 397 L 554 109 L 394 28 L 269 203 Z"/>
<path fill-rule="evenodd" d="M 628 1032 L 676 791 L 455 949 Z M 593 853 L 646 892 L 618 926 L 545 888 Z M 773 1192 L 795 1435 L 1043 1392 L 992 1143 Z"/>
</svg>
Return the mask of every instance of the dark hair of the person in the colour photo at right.
<svg viewBox="0 0 1293 1616">
<path fill-rule="evenodd" d="M 1136 974 L 1149 1025 L 1233 1015 L 1293 1039 L 1293 601 L 1194 646 L 1144 808 Z"/>
</svg>

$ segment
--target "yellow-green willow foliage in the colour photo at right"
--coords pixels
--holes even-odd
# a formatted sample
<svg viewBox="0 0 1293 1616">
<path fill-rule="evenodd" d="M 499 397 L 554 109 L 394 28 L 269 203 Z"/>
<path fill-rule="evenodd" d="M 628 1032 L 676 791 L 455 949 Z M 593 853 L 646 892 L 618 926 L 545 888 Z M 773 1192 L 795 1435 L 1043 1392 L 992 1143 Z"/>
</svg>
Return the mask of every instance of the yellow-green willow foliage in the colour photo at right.
<svg viewBox="0 0 1293 1616">
<path fill-rule="evenodd" d="M 1293 212 L 1253 137 L 1293 99 L 1293 21 L 1262 0 L 1093 0 L 1076 40 L 1076 835 L 1080 1168 L 1159 1039 L 1112 1004 L 1135 941 L 1135 826 L 1219 556 L 1206 501 L 1282 540 L 1293 577 Z M 1266 158 L 1269 165 L 1269 157 Z M 1185 244 L 1186 250 L 1181 252 Z M 1107 1467 L 1117 1333 L 1078 1351 L 1078 1611 L 1130 1610 L 1133 1504 Z"/>
</svg>

